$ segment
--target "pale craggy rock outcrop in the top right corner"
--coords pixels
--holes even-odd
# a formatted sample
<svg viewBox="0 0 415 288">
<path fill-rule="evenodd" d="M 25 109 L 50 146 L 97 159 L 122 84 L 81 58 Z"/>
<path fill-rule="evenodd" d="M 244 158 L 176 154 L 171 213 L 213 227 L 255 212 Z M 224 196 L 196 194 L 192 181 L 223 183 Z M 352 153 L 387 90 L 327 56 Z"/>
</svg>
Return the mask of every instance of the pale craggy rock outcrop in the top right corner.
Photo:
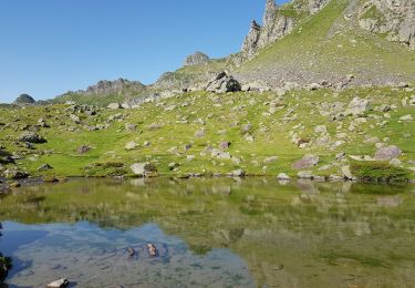
<svg viewBox="0 0 415 288">
<path fill-rule="evenodd" d="M 370 0 L 357 13 L 361 28 L 415 50 L 414 0 Z"/>
</svg>

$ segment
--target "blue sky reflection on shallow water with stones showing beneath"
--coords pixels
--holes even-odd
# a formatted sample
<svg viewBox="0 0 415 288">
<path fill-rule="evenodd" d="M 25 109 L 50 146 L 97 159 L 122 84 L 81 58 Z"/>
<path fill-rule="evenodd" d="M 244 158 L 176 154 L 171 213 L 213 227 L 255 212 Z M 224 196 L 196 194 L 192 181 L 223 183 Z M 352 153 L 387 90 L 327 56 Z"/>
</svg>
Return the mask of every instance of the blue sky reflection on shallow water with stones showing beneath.
<svg viewBox="0 0 415 288">
<path fill-rule="evenodd" d="M 13 251 L 30 267 L 14 271 L 8 282 L 19 287 L 44 287 L 68 277 L 80 287 L 255 287 L 243 260 L 226 249 L 195 255 L 178 238 L 167 236 L 156 225 L 126 232 L 101 229 L 89 223 L 27 226 L 7 223 L 8 235 L 44 232 L 44 237 Z M 20 239 L 24 239 L 21 237 Z M 147 243 L 154 243 L 157 257 L 151 257 Z M 126 249 L 133 247 L 131 257 Z"/>
</svg>

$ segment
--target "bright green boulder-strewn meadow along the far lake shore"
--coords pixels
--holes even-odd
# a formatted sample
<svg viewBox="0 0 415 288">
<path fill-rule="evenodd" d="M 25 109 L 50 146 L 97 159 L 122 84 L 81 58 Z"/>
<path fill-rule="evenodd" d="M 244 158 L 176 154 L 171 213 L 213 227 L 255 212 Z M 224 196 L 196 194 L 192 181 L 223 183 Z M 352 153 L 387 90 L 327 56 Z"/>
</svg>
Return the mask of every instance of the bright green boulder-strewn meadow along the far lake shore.
<svg viewBox="0 0 415 288">
<path fill-rule="evenodd" d="M 394 91 L 392 89 L 359 89 L 347 90 L 340 94 L 331 91 L 299 91 L 292 92 L 281 99 L 281 104 L 286 107 L 278 110 L 273 115 L 262 115 L 269 110 L 264 103 L 276 99 L 272 93 L 236 93 L 227 95 L 212 95 L 208 93 L 189 93 L 179 97 L 163 101 L 164 105 L 148 103 L 139 110 L 120 110 L 120 111 L 100 111 L 98 115 L 86 117 L 81 115 L 83 124 L 74 124 L 65 115 L 64 105 L 53 105 L 49 107 L 25 107 L 24 110 L 3 109 L 1 111 L 0 122 L 10 123 L 10 127 L 0 131 L 1 145 L 6 151 L 17 153 L 23 156 L 19 160 L 19 166 L 28 169 L 35 175 L 58 175 L 58 176 L 79 176 L 85 175 L 84 167 L 94 163 L 124 163 L 128 167 L 132 163 L 151 161 L 158 168 L 160 174 L 172 174 L 168 164 L 172 162 L 180 163 L 179 171 L 175 174 L 186 173 L 228 173 L 238 167 L 242 167 L 249 174 L 255 175 L 277 175 L 286 172 L 295 175 L 291 164 L 301 158 L 307 153 L 315 153 L 321 156 L 319 166 L 330 164 L 339 152 L 346 152 L 350 155 L 374 155 L 375 143 L 365 143 L 366 137 L 390 138 L 390 144 L 397 145 L 404 151 L 401 157 L 404 167 L 411 166 L 407 162 L 415 158 L 414 137 L 415 125 L 413 123 L 403 124 L 398 119 L 411 114 L 413 109 L 401 107 L 390 112 L 391 119 L 383 117 L 382 112 L 367 112 L 365 123 L 356 125 L 355 131 L 349 131 L 352 117 L 346 117 L 340 122 L 329 122 L 328 116 L 320 115 L 318 106 L 322 102 L 341 102 L 344 106 L 355 96 L 371 97 L 373 106 L 381 104 L 402 106 L 401 101 L 409 96 L 409 92 Z M 181 105 L 187 103 L 187 105 Z M 165 111 L 165 107 L 175 105 L 173 111 Z M 292 109 L 295 119 L 284 121 L 288 110 Z M 59 114 L 56 113 L 59 111 Z M 114 114 L 121 114 L 124 121 L 111 122 L 110 127 L 104 131 L 87 131 L 90 125 L 104 124 L 106 120 Z M 48 117 L 48 115 L 50 115 Z M 20 121 L 15 121 L 19 117 Z M 41 128 L 40 134 L 48 138 L 46 144 L 35 145 L 39 150 L 48 153 L 41 153 L 39 150 L 20 148 L 14 140 L 21 133 L 19 127 L 24 124 L 34 125 L 38 119 L 45 119 L 51 128 Z M 181 124 L 177 121 L 186 119 L 188 124 Z M 197 124 L 195 121 L 203 119 L 206 125 Z M 378 123 L 386 121 L 385 126 L 380 127 Z M 126 132 L 125 124 L 134 123 L 138 125 L 137 131 Z M 147 125 L 158 123 L 163 126 L 158 130 L 149 130 Z M 246 123 L 252 124 L 252 135 L 255 142 L 249 143 L 241 133 L 241 126 Z M 304 128 L 294 128 L 299 124 Z M 237 125 L 235 125 L 237 124 Z M 335 150 L 317 145 L 315 140 L 319 136 L 314 133 L 315 125 L 326 125 L 334 142 L 336 133 L 347 135 L 346 143 Z M 338 125 L 342 125 L 339 130 Z M 0 126 L 1 127 L 1 126 Z M 74 132 L 69 132 L 69 127 L 74 127 Z M 195 132 L 206 128 L 206 136 L 195 137 Z M 266 130 L 264 130 L 266 128 Z M 224 135 L 218 132 L 225 130 Z M 295 131 L 300 137 L 312 141 L 310 148 L 299 148 L 291 142 L 289 133 Z M 125 144 L 135 141 L 142 146 L 126 151 Z M 152 144 L 148 147 L 143 146 L 145 141 Z M 242 162 L 235 164 L 230 160 L 214 160 L 210 154 L 201 156 L 207 145 L 218 147 L 221 141 L 231 142 L 227 150 L 232 156 L 239 157 Z M 187 152 L 185 144 L 191 144 Z M 92 150 L 86 154 L 77 154 L 76 150 L 81 145 L 89 145 Z M 172 154 L 169 148 L 177 146 L 179 154 Z M 187 155 L 195 155 L 191 162 L 186 160 Z M 269 156 L 278 156 L 279 160 L 273 163 L 264 164 L 263 161 Z M 37 168 L 49 163 L 54 168 L 48 172 L 39 173 Z M 329 171 L 317 171 L 322 175 L 339 174 L 340 166 Z M 100 167 L 91 169 L 87 175 L 104 176 L 114 175 L 114 169 L 107 165 L 100 171 Z M 122 169 L 125 171 L 125 169 Z M 116 173 L 115 173 L 116 174 Z"/>
</svg>

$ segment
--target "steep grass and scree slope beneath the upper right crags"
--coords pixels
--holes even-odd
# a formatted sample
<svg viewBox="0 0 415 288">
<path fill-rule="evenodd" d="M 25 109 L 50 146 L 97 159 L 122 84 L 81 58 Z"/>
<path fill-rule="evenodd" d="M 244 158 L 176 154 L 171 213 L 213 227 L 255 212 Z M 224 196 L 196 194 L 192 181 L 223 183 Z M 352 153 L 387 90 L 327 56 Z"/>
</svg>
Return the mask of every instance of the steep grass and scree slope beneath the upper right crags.
<svg viewBox="0 0 415 288">
<path fill-rule="evenodd" d="M 333 23 L 346 27 L 343 10 L 349 1 L 331 1 L 321 12 L 298 25 L 292 33 L 262 50 L 238 72 L 294 66 L 303 73 L 320 72 L 376 80 L 378 76 L 415 78 L 415 52 L 357 28 L 331 35 Z M 360 31 L 360 32 L 359 32 Z M 350 40 L 356 40 L 356 44 Z M 311 64 L 312 63 L 312 64 Z"/>
</svg>

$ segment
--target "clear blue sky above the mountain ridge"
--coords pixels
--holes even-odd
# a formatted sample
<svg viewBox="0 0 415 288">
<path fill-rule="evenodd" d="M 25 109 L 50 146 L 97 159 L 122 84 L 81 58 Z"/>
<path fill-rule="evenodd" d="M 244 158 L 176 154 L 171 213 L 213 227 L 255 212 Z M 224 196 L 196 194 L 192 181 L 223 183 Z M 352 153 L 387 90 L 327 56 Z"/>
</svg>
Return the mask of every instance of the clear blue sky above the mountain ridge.
<svg viewBox="0 0 415 288">
<path fill-rule="evenodd" d="M 0 0 L 0 102 L 50 99 L 98 80 L 148 84 L 195 51 L 237 52 L 264 2 Z"/>
</svg>

